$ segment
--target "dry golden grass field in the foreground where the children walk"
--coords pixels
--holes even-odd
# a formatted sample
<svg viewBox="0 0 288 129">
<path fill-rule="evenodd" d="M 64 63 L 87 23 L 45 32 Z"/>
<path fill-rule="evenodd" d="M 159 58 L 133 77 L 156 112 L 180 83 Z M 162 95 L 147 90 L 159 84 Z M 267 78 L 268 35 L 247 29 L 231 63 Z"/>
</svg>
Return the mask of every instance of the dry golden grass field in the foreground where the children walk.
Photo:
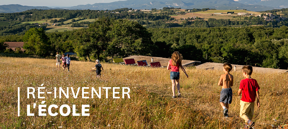
<svg viewBox="0 0 288 129">
<path fill-rule="evenodd" d="M 91 72 L 95 62 L 72 60 L 70 72 L 56 70 L 54 59 L 0 57 L 0 128 L 243 128 L 244 120 L 239 118 L 240 96 L 237 95 L 239 83 L 243 78 L 241 72 L 232 71 L 234 75 L 233 99 L 230 105 L 230 118 L 223 118 L 223 109 L 219 104 L 221 87 L 217 86 L 223 71 L 199 70 L 186 68 L 189 78 L 180 72 L 182 98 L 172 98 L 170 71 L 164 68 L 149 68 L 101 63 L 101 80 Z M 288 75 L 253 73 L 252 78 L 259 83 L 260 108 L 255 108 L 255 128 L 272 128 L 288 123 Z M 27 99 L 27 87 L 35 88 L 44 84 L 45 99 Z M 20 87 L 20 116 L 17 116 L 17 87 Z M 77 99 L 71 90 L 69 98 L 54 98 L 54 87 L 89 87 L 89 99 L 82 99 L 80 88 Z M 91 87 L 98 92 L 98 87 L 129 87 L 130 99 L 122 99 L 122 88 L 116 89 L 112 98 L 112 89 L 106 99 L 105 89 L 101 90 L 101 99 L 91 98 Z M 52 95 L 46 92 L 52 92 Z M 76 91 L 75 91 L 76 92 Z M 58 90 L 57 90 L 58 96 Z M 94 95 L 96 97 L 97 95 Z M 32 95 L 30 95 L 32 97 Z M 81 105 L 89 104 L 90 116 L 38 116 L 38 105 L 42 101 L 51 104 L 76 105 L 76 113 L 81 113 Z M 37 103 L 33 108 L 33 103 Z M 31 105 L 27 116 L 26 107 Z M 66 113 L 66 108 L 64 112 Z M 58 112 L 59 108 L 52 108 Z M 46 112 L 45 112 L 46 113 Z M 86 112 L 87 113 L 87 112 Z M 275 121 L 276 120 L 276 121 Z"/>
</svg>

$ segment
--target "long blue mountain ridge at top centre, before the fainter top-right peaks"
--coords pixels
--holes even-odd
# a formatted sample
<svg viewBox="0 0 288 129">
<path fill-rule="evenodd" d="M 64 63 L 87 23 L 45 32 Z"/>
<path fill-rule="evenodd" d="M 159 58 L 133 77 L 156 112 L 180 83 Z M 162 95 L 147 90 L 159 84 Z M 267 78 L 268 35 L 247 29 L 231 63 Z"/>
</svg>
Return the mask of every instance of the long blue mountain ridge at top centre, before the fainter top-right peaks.
<svg viewBox="0 0 288 129">
<path fill-rule="evenodd" d="M 111 3 L 95 3 L 93 5 L 77 5 L 65 9 L 94 9 L 94 10 L 113 10 L 119 8 L 133 8 L 133 9 L 161 9 L 163 7 L 175 7 L 181 9 L 202 9 L 212 8 L 217 10 L 222 9 L 247 9 L 250 11 L 265 11 L 272 10 L 274 7 L 255 4 L 243 4 L 234 0 L 126 0 L 116 1 Z"/>
</svg>

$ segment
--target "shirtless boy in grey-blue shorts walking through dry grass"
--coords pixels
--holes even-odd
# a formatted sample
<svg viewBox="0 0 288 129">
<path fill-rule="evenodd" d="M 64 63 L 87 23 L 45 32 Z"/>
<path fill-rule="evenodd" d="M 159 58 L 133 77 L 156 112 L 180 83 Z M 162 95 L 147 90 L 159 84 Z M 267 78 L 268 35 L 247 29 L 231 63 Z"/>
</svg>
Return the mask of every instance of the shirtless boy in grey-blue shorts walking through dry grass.
<svg viewBox="0 0 288 129">
<path fill-rule="evenodd" d="M 220 92 L 220 105 L 223 108 L 224 117 L 228 117 L 229 104 L 232 102 L 232 86 L 233 86 L 233 75 L 230 74 L 232 65 L 230 63 L 223 64 L 223 72 L 220 76 L 218 85 L 222 86 Z"/>
</svg>

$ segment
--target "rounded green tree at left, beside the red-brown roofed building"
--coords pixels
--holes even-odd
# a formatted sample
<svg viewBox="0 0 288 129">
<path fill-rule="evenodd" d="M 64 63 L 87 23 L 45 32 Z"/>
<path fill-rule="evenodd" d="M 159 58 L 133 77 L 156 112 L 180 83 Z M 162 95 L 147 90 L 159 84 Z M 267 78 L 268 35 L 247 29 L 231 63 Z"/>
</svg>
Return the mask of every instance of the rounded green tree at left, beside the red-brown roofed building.
<svg viewBox="0 0 288 129">
<path fill-rule="evenodd" d="M 43 28 L 30 28 L 24 34 L 23 41 L 26 53 L 38 56 L 50 55 L 50 44 Z"/>
</svg>

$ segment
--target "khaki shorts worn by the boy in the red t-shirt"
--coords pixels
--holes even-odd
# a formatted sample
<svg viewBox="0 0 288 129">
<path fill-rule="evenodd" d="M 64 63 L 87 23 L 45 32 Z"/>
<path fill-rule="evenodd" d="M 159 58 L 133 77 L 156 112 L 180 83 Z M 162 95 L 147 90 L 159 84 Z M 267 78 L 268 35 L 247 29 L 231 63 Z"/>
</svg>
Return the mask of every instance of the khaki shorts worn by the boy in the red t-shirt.
<svg viewBox="0 0 288 129">
<path fill-rule="evenodd" d="M 247 118 L 251 120 L 254 115 L 254 105 L 255 102 L 244 102 L 240 100 L 240 117 L 246 120 Z"/>
</svg>

